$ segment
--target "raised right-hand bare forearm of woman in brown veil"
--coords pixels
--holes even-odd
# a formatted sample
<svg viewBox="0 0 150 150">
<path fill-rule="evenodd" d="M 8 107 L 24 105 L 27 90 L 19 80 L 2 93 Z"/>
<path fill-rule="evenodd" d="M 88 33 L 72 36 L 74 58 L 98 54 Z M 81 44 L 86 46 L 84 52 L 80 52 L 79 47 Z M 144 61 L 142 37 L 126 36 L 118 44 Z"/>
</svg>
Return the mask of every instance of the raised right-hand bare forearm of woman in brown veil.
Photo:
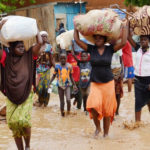
<svg viewBox="0 0 150 150">
<path fill-rule="evenodd" d="M 32 51 L 33 51 L 33 55 L 34 56 L 38 56 L 40 48 L 43 44 L 43 40 L 42 37 L 40 35 L 40 33 L 38 32 L 37 36 L 36 36 L 36 44 L 32 47 Z"/>
</svg>

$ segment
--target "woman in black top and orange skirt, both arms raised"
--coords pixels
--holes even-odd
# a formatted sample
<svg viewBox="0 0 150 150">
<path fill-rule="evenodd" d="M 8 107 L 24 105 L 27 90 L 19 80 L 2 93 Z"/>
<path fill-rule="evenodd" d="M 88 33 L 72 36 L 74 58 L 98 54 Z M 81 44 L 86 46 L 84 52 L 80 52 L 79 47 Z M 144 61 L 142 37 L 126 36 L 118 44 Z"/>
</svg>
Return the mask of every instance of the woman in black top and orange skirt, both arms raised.
<svg viewBox="0 0 150 150">
<path fill-rule="evenodd" d="M 89 52 L 91 56 L 91 87 L 86 108 L 96 127 L 95 136 L 98 136 L 101 131 L 100 120 L 102 118 L 104 121 L 104 137 L 108 135 L 110 122 L 113 121 L 117 108 L 111 60 L 113 53 L 125 45 L 128 33 L 127 28 L 128 23 L 124 23 L 121 42 L 115 45 L 110 44 L 109 46 L 105 45 L 107 42 L 106 36 L 93 35 L 95 45 L 89 45 L 81 41 L 78 30 L 74 30 L 76 43 Z"/>
</svg>

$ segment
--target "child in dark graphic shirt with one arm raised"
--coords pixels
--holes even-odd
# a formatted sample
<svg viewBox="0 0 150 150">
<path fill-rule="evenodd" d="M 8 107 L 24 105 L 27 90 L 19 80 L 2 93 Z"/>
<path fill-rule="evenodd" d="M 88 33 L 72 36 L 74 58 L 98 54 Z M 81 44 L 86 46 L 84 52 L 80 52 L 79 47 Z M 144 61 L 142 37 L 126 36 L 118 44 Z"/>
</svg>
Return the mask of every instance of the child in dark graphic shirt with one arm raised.
<svg viewBox="0 0 150 150">
<path fill-rule="evenodd" d="M 86 112 L 86 101 L 90 92 L 90 75 L 92 66 L 91 63 L 88 61 L 88 53 L 86 51 L 81 52 L 81 60 L 79 60 L 74 54 L 73 45 L 72 48 L 73 48 L 72 55 L 74 56 L 74 58 L 78 62 L 78 66 L 80 67 L 79 86 L 82 93 L 84 111 Z"/>
</svg>

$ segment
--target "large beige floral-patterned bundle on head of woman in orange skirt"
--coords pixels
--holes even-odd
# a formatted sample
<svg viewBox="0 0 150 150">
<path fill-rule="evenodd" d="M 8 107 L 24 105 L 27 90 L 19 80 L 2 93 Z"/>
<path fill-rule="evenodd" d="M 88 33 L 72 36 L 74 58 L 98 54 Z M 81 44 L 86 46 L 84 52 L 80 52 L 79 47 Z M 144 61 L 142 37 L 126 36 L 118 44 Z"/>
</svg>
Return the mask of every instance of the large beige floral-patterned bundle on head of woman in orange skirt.
<svg viewBox="0 0 150 150">
<path fill-rule="evenodd" d="M 94 43 L 95 34 L 107 36 L 108 40 L 117 40 L 122 21 L 112 9 L 91 10 L 85 15 L 76 16 L 74 26 L 88 41 Z"/>
</svg>

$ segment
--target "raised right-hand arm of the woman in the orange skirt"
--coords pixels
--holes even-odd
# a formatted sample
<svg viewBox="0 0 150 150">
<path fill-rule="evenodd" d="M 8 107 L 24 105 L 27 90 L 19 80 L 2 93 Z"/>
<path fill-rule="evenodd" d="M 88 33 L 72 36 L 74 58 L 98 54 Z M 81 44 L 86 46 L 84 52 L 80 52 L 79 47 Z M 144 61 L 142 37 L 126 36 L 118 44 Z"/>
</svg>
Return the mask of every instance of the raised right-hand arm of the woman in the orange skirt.
<svg viewBox="0 0 150 150">
<path fill-rule="evenodd" d="M 128 28 L 129 28 L 129 22 L 127 20 L 124 21 L 122 25 L 121 42 L 114 45 L 114 51 L 118 51 L 125 46 L 128 37 Z"/>
</svg>

